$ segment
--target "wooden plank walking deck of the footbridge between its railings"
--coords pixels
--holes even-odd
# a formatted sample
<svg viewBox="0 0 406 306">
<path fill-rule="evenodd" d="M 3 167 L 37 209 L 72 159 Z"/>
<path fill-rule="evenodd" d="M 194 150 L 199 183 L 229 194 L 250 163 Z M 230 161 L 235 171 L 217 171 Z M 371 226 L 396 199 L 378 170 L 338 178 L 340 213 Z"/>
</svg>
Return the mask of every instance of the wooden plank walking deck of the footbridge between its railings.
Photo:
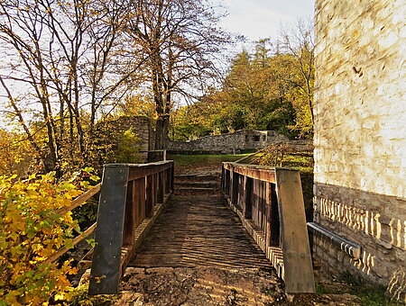
<svg viewBox="0 0 406 306">
<path fill-rule="evenodd" d="M 128 266 L 272 268 L 216 192 L 173 197 Z"/>
</svg>

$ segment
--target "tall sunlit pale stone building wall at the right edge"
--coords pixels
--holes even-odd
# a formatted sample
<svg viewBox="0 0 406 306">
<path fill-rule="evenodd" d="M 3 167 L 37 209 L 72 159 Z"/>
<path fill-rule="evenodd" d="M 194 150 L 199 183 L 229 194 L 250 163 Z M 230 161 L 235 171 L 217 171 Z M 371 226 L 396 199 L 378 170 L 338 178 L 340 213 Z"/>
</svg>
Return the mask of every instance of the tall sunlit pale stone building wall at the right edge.
<svg viewBox="0 0 406 306">
<path fill-rule="evenodd" d="M 354 259 L 314 239 L 314 257 L 405 299 L 406 91 L 401 0 L 316 1 L 315 204 Z M 401 293 L 403 292 L 403 293 Z"/>
</svg>

